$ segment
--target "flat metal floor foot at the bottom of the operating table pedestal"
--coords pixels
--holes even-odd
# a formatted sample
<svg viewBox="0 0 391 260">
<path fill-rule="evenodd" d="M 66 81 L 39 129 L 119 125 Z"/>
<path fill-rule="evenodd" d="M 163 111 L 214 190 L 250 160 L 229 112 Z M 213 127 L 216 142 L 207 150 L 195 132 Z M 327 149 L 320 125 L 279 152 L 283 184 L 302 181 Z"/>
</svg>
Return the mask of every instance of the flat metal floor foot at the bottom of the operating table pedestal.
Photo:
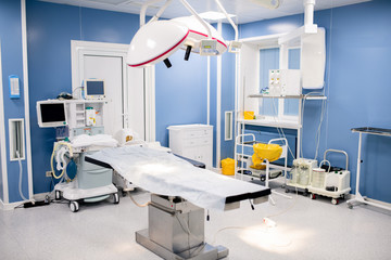
<svg viewBox="0 0 391 260">
<path fill-rule="evenodd" d="M 204 244 L 204 246 L 192 248 L 191 250 L 187 250 L 181 253 L 174 253 L 168 249 L 162 247 L 157 243 L 151 240 L 149 237 L 148 229 L 136 232 L 136 242 L 141 246 L 146 247 L 148 250 L 156 253 L 161 258 L 169 259 L 169 260 L 180 260 L 180 259 L 216 260 L 228 256 L 228 248 L 223 246 L 213 247 L 209 244 Z"/>
</svg>

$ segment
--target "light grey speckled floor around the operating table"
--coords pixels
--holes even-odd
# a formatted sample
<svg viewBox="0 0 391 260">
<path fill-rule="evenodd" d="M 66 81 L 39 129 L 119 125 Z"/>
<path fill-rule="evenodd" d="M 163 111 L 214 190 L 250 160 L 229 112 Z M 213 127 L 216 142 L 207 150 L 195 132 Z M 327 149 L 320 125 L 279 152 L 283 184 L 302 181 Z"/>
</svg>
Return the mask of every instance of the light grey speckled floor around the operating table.
<svg viewBox="0 0 391 260">
<path fill-rule="evenodd" d="M 136 194 L 139 202 L 149 199 L 148 193 Z M 265 203 L 254 211 L 249 202 L 237 210 L 212 211 L 206 242 L 228 247 L 228 259 L 234 260 L 391 259 L 390 213 L 293 196 L 275 195 L 276 206 Z M 267 216 L 274 216 L 276 227 L 263 224 Z M 119 205 L 81 205 L 77 213 L 67 204 L 0 210 L 0 259 L 160 259 L 135 242 L 147 218 L 147 208 L 138 208 L 129 197 L 122 197 Z"/>
</svg>

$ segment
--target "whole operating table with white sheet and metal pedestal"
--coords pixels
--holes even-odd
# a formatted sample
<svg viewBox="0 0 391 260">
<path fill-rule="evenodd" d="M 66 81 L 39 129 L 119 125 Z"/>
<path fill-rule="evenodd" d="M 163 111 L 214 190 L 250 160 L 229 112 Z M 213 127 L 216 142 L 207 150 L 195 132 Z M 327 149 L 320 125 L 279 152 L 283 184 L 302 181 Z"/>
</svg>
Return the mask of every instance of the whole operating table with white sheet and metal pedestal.
<svg viewBox="0 0 391 260">
<path fill-rule="evenodd" d="M 151 192 L 149 229 L 136 232 L 136 242 L 164 259 L 227 257 L 226 247 L 204 242 L 204 208 L 231 210 L 245 199 L 253 204 L 267 202 L 270 194 L 267 187 L 216 174 L 167 152 L 144 147 L 108 148 L 85 160 L 115 169 L 127 181 Z"/>
</svg>

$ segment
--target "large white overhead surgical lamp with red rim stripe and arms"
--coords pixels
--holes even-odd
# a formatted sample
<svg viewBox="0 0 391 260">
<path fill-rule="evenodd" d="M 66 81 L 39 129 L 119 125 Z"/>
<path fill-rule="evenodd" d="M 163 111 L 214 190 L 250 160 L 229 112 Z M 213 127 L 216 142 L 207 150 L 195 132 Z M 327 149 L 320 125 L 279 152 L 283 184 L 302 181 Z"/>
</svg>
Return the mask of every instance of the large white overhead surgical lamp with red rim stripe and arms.
<svg viewBox="0 0 391 260">
<path fill-rule="evenodd" d="M 128 51 L 127 64 L 129 66 L 143 67 L 164 61 L 165 65 L 171 67 L 168 57 L 179 48 L 186 49 L 185 60 L 189 58 L 190 52 L 201 55 L 220 55 L 227 50 L 227 43 L 218 31 L 202 20 L 186 0 L 180 0 L 180 2 L 192 16 L 159 21 L 159 17 L 171 3 L 171 0 L 167 0 L 156 15 L 144 24 L 148 5 L 159 1 L 161 0 L 149 1 L 141 8 L 141 27 L 133 38 Z M 218 0 L 215 1 L 222 9 Z M 224 13 L 228 21 L 234 24 L 225 10 Z"/>
</svg>

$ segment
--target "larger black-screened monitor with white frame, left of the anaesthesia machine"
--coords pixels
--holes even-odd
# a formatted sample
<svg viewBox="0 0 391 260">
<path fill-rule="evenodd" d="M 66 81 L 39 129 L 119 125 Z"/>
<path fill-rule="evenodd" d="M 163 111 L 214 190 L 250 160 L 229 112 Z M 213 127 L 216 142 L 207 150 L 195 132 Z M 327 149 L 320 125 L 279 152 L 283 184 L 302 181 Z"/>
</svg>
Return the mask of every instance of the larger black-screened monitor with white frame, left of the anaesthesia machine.
<svg viewBox="0 0 391 260">
<path fill-rule="evenodd" d="M 61 102 L 37 103 L 38 125 L 45 127 L 63 127 L 66 125 L 65 104 Z"/>
</svg>

